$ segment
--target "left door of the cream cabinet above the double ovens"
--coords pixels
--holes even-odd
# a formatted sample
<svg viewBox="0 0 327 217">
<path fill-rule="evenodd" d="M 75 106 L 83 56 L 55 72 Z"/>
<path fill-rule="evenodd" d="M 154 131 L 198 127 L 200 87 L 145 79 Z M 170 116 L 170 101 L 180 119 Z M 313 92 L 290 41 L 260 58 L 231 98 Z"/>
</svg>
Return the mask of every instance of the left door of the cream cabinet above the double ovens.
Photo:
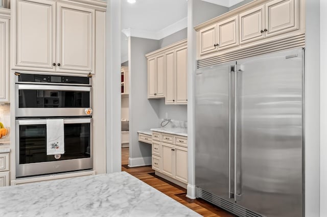
<svg viewBox="0 0 327 217">
<path fill-rule="evenodd" d="M 55 6 L 47 0 L 16 2 L 16 68 L 55 71 Z"/>
</svg>

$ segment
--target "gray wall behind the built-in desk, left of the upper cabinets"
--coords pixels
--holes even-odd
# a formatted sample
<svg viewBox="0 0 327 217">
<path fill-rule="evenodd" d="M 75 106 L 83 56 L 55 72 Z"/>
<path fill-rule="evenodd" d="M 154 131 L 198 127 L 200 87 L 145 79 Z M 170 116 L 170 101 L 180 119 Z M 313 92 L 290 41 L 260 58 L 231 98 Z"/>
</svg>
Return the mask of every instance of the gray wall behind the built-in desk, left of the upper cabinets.
<svg viewBox="0 0 327 217">
<path fill-rule="evenodd" d="M 159 127 L 159 102 L 148 100 L 147 94 L 147 59 L 146 53 L 159 48 L 158 41 L 130 37 L 130 72 L 129 72 L 129 133 L 130 133 L 130 166 L 139 166 L 139 158 L 151 157 L 151 145 L 138 142 L 138 130 Z M 151 161 L 150 161 L 151 164 Z"/>
</svg>

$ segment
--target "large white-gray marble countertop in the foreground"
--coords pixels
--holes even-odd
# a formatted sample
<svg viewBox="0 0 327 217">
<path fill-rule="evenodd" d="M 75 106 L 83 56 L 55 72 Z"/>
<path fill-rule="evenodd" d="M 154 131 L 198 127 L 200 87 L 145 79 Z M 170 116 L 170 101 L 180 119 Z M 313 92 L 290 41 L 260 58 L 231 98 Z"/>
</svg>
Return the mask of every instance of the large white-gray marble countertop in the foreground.
<svg viewBox="0 0 327 217">
<path fill-rule="evenodd" d="M 0 187 L 0 216 L 200 216 L 126 172 Z"/>
</svg>

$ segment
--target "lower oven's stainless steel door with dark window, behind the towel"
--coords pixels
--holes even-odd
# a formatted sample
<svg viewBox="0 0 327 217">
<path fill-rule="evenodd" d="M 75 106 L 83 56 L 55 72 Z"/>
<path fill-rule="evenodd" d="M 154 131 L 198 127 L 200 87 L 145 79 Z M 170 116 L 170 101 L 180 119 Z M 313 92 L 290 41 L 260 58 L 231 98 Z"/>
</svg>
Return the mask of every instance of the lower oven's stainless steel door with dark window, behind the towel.
<svg viewBox="0 0 327 217">
<path fill-rule="evenodd" d="M 16 120 L 16 177 L 92 169 L 92 118 L 63 119 L 61 155 L 46 153 L 46 120 Z"/>
</svg>

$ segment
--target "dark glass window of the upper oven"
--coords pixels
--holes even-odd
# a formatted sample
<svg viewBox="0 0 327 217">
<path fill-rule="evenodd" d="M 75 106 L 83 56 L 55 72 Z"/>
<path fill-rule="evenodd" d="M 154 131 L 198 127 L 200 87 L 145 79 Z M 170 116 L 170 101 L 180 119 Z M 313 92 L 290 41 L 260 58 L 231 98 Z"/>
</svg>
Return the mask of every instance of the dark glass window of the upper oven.
<svg viewBox="0 0 327 217">
<path fill-rule="evenodd" d="M 18 90 L 19 108 L 90 107 L 89 91 Z"/>
</svg>

